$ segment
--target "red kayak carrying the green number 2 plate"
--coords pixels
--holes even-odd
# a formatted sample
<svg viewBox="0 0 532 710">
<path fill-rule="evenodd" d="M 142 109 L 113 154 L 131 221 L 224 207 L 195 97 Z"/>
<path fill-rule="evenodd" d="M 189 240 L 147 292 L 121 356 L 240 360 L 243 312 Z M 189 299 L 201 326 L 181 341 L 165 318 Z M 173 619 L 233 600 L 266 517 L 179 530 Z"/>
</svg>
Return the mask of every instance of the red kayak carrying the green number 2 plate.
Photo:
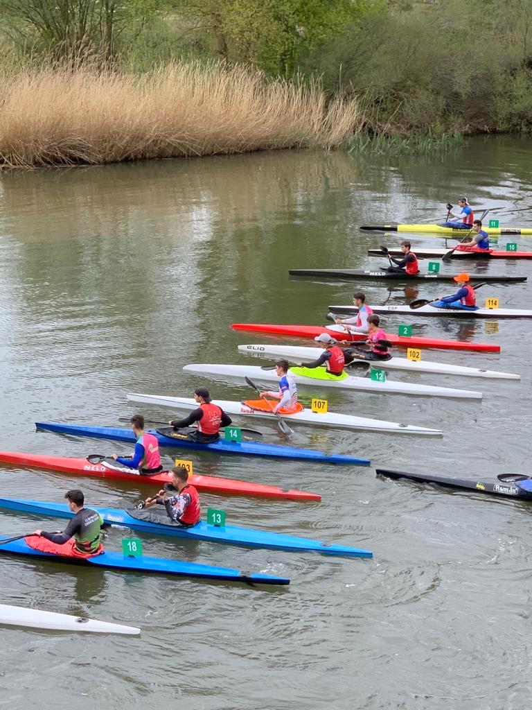
<svg viewBox="0 0 532 710">
<path fill-rule="evenodd" d="M 494 311 L 495 313 L 495 311 Z M 364 334 L 351 334 L 345 332 L 331 332 L 327 328 L 315 325 L 272 325 L 264 323 L 233 323 L 231 328 L 235 330 L 250 330 L 255 333 L 272 333 L 275 335 L 289 335 L 297 338 L 315 338 L 316 335 L 328 333 L 337 340 L 360 341 L 365 340 Z M 475 350 L 487 353 L 499 353 L 500 345 L 488 345 L 487 343 L 468 343 L 465 340 L 438 340 L 438 338 L 418 338 L 412 336 L 405 338 L 392 333 L 386 334 L 392 345 L 403 348 L 438 348 L 441 350 Z"/>
</svg>

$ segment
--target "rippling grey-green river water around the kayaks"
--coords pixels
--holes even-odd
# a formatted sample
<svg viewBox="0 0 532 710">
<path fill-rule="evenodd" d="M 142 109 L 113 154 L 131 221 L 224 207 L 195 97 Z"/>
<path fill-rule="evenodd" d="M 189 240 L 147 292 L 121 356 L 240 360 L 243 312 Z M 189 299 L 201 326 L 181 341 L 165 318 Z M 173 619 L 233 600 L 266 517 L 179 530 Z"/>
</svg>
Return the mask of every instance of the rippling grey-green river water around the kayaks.
<svg viewBox="0 0 532 710">
<path fill-rule="evenodd" d="M 76 457 L 126 452 L 116 442 L 35 433 L 34 422 L 116 426 L 135 412 L 128 391 L 192 396 L 201 384 L 216 398 L 249 397 L 247 388 L 194 378 L 182 366 L 256 364 L 236 346 L 274 339 L 231 331 L 231 322 L 321 324 L 328 305 L 349 303 L 355 287 L 370 304 L 416 297 L 413 289 L 405 295 L 369 282 L 289 279 L 289 268 L 378 266 L 367 249 L 400 240 L 362 233 L 360 224 L 443 219 L 443 205 L 465 193 L 478 212 L 499 207 L 501 224 L 531 226 L 531 149 L 531 141 L 489 137 L 445 159 L 279 152 L 4 173 L 1 448 Z M 436 236 L 412 241 L 444 244 Z M 526 237 L 515 241 L 532 247 Z M 526 274 L 528 262 L 481 268 Z M 480 300 L 527 307 L 528 289 L 490 285 Z M 437 291 L 421 284 L 419 297 Z M 401 322 L 389 317 L 386 327 L 397 332 Z M 0 601 L 142 628 L 138 638 L 1 628 L 0 707 L 528 707 L 530 506 L 377 479 L 375 466 L 488 480 L 528 473 L 531 369 L 523 351 L 531 325 L 412 323 L 414 333 L 502 345 L 501 356 L 424 351 L 425 359 L 517 372 L 521 383 L 389 376 L 481 390 L 482 403 L 327 393 L 329 410 L 445 430 L 443 439 L 423 439 L 296 428 L 294 445 L 365 456 L 370 468 L 187 456 L 205 474 L 323 495 L 307 505 L 202 496 L 204 508 L 226 510 L 228 523 L 365 547 L 374 559 L 143 537 L 150 555 L 292 579 L 289 587 L 253 589 L 0 557 Z M 308 402 L 325 392 L 301 394 Z M 155 419 L 171 414 L 143 411 Z M 275 425 L 259 423 L 266 441 L 283 443 Z M 61 501 L 77 486 L 92 505 L 126 506 L 147 493 L 0 468 L 4 496 Z M 57 525 L 64 523 L 0 515 L 3 535 Z M 113 530 L 106 545 L 121 550 L 127 536 Z"/>
</svg>

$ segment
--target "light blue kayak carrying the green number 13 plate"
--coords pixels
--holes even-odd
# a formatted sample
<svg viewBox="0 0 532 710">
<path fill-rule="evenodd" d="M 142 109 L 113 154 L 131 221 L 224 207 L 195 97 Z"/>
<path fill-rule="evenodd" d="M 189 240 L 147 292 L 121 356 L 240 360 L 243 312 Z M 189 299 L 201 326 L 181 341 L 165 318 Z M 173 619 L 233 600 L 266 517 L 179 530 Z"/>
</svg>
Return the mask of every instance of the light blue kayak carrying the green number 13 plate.
<svg viewBox="0 0 532 710">
<path fill-rule="evenodd" d="M 47 503 L 46 501 L 26 501 L 23 498 L 0 498 L 0 508 L 8 510 L 21 510 L 24 513 L 35 515 L 48 515 L 51 518 L 73 518 L 74 513 L 65 503 Z M 104 519 L 104 523 L 109 523 L 117 528 L 131 528 L 140 532 L 148 532 L 153 535 L 168 535 L 170 537 L 186 537 L 189 540 L 208 540 L 209 542 L 224 542 L 228 545 L 243 545 L 245 547 L 266 547 L 270 550 L 287 550 L 289 552 L 323 552 L 326 555 L 339 555 L 343 557 L 373 557 L 369 550 L 359 550 L 358 547 L 347 547 L 345 545 L 333 545 L 320 540 L 311 540 L 307 537 L 295 537 L 295 535 L 282 535 L 279 532 L 266 532 L 265 530 L 252 530 L 251 528 L 237 528 L 235 525 L 209 525 L 204 521 L 197 523 L 192 528 L 181 528 L 178 525 L 163 525 L 162 523 L 151 523 L 148 520 L 133 518 L 127 510 L 119 508 L 93 508 Z M 10 543 L 8 543 L 9 545 Z M 0 550 L 4 545 L 0 545 Z M 5 546 L 7 547 L 7 545 Z M 113 553 L 105 552 L 104 555 Z M 91 557 L 87 562 L 97 562 L 103 555 Z M 124 562 L 120 555 L 116 555 L 121 562 Z M 129 559 L 129 558 L 128 558 Z M 136 558 L 135 558 L 136 559 Z M 141 562 L 146 559 L 140 557 Z M 158 560 L 157 562 L 161 562 Z M 192 564 L 190 562 L 164 561 L 166 564 Z M 193 565 L 196 567 L 197 565 Z M 202 567 L 203 565 L 200 565 Z M 216 570 L 218 568 L 211 567 Z M 148 569 L 148 571 L 150 571 Z M 232 572 L 233 577 L 238 577 L 241 572 L 238 570 L 226 570 Z M 257 575 L 251 575 L 250 581 Z M 262 577 L 262 575 L 258 575 Z M 266 577 L 266 579 L 271 579 Z M 246 580 L 248 581 L 248 580 Z"/>
</svg>

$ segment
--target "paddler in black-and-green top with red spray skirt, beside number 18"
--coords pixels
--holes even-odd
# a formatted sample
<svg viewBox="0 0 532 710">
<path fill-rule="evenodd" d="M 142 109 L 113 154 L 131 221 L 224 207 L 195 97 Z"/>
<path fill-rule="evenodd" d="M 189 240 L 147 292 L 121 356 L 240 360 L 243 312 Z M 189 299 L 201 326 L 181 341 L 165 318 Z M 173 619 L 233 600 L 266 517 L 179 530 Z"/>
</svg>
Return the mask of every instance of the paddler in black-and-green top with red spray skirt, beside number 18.
<svg viewBox="0 0 532 710">
<path fill-rule="evenodd" d="M 101 515 L 92 508 L 85 508 L 85 498 L 78 488 L 65 493 L 70 512 L 74 518 L 70 520 L 62 532 L 45 532 L 35 530 L 33 536 L 25 538 L 33 550 L 50 552 L 52 555 L 66 557 L 93 557 L 104 552 L 101 544 L 101 526 L 104 521 Z"/>
</svg>

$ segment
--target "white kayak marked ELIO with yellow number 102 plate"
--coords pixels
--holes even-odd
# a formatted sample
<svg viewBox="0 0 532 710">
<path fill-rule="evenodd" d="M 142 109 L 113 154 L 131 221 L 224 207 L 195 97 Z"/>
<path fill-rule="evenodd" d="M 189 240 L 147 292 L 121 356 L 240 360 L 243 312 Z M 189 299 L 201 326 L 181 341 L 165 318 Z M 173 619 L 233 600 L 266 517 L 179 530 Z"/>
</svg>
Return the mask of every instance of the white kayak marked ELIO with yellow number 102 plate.
<svg viewBox="0 0 532 710">
<path fill-rule="evenodd" d="M 353 343 L 356 345 L 356 343 Z M 301 360 L 315 360 L 320 354 L 321 348 L 302 347 L 299 345 L 275 345 L 275 344 L 250 344 L 239 345 L 238 349 L 247 355 L 264 356 L 272 355 L 282 357 L 292 362 Z M 382 367 L 384 370 L 406 370 L 408 372 L 431 373 L 434 375 L 460 375 L 465 377 L 486 377 L 500 380 L 519 380 L 520 375 L 511 372 L 499 372 L 497 370 L 480 370 L 476 367 L 462 367 L 460 365 L 446 365 L 441 362 L 428 362 L 420 360 L 407 360 L 404 357 L 392 357 L 390 360 L 364 361 L 368 366 L 371 364 Z"/>
</svg>

